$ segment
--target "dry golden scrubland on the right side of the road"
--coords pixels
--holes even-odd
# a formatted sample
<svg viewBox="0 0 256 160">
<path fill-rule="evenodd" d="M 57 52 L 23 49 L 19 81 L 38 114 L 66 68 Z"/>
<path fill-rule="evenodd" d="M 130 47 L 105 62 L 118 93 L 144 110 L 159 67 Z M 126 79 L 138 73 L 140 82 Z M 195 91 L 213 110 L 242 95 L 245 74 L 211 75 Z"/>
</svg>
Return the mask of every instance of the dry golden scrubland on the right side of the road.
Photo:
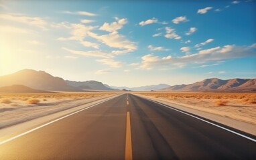
<svg viewBox="0 0 256 160">
<path fill-rule="evenodd" d="M 256 125 L 256 93 L 138 92 L 192 109 Z"/>
</svg>

